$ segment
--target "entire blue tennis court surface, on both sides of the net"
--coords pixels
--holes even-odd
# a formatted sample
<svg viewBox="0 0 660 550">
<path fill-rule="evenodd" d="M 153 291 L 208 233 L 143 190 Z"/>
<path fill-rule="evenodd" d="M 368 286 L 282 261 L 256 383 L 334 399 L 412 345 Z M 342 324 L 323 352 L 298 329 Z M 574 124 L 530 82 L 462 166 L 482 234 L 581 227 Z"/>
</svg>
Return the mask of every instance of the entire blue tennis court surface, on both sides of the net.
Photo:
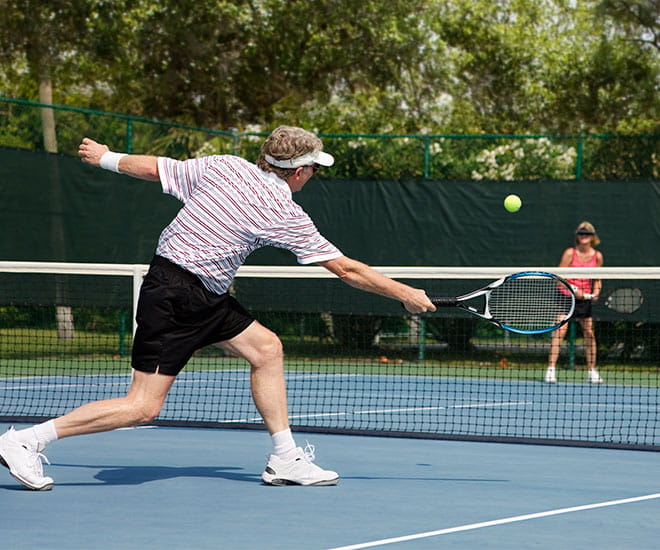
<svg viewBox="0 0 660 550">
<path fill-rule="evenodd" d="M 55 550 L 657 547 L 655 374 L 631 384 L 607 372 L 594 385 L 583 371 L 546 384 L 534 371 L 341 368 L 349 372 L 287 372 L 297 442 L 316 446 L 317 462 L 340 473 L 338 486 L 263 485 L 271 443 L 247 369 L 193 368 L 159 417 L 191 427 L 57 441 L 46 450 L 50 492 L 24 490 L 0 469 L 3 542 L 16 550 L 44 541 Z M 56 416 L 129 384 L 126 373 L 4 378 L 0 416 Z M 223 424 L 250 429 L 199 427 Z M 314 433 L 324 430 L 354 434 Z M 421 437 L 383 437 L 405 430 Z M 424 439 L 438 435 L 504 442 Z M 577 446 L 533 444 L 552 440 Z"/>
</svg>

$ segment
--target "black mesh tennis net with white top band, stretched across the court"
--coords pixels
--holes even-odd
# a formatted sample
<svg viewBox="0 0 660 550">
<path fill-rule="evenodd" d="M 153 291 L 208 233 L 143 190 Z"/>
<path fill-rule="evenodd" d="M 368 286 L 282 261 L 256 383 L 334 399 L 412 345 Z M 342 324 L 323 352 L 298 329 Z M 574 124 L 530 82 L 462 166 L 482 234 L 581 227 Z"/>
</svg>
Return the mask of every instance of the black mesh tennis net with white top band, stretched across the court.
<svg viewBox="0 0 660 550">
<path fill-rule="evenodd" d="M 125 394 L 144 265 L 0 262 L 0 421 L 38 421 Z M 521 268 L 378 268 L 460 295 Z M 459 310 L 406 315 L 316 267 L 244 266 L 232 292 L 284 344 L 291 424 L 307 431 L 660 450 L 660 268 L 559 269 L 600 278 L 602 383 L 571 322 L 546 383 L 550 335 Z M 249 367 L 199 350 L 157 423 L 260 427 Z"/>
</svg>

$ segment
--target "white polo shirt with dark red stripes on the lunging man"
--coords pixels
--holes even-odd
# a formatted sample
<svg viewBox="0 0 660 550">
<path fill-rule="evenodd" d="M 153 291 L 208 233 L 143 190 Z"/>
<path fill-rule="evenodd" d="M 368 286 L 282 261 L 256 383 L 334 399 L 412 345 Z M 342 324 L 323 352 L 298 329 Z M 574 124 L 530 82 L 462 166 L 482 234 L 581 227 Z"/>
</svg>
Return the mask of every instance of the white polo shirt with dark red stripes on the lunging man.
<svg viewBox="0 0 660 550">
<path fill-rule="evenodd" d="M 159 157 L 158 170 L 163 192 L 183 207 L 161 233 L 156 254 L 197 275 L 211 292 L 227 292 L 236 270 L 262 246 L 290 250 L 301 264 L 342 255 L 285 181 L 240 157 Z"/>
</svg>

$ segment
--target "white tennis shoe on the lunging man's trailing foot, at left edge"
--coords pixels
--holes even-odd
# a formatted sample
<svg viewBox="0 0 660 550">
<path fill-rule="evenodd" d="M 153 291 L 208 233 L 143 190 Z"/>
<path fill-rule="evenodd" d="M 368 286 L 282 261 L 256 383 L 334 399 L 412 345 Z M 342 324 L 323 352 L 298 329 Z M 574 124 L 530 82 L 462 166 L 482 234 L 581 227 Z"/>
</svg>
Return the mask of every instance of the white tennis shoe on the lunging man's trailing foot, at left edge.
<svg viewBox="0 0 660 550">
<path fill-rule="evenodd" d="M 40 451 L 43 449 L 19 442 L 13 426 L 0 435 L 0 464 L 9 468 L 9 473 L 28 489 L 49 491 L 53 479 L 44 476 L 41 460 L 50 462 Z"/>
</svg>

